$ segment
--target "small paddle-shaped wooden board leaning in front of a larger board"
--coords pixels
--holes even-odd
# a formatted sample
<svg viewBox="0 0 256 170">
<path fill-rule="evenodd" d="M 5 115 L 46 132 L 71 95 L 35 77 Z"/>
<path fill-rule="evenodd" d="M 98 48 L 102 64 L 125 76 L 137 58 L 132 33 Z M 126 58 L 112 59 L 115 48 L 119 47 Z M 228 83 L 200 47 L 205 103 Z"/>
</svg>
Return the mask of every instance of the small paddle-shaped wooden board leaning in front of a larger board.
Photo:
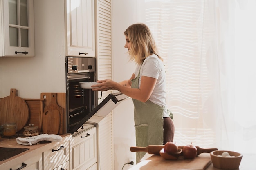
<svg viewBox="0 0 256 170">
<path fill-rule="evenodd" d="M 62 127 L 64 110 L 57 104 L 56 95 L 56 93 L 50 93 L 45 97 L 49 101 L 49 105 L 45 106 L 43 112 L 43 133 L 58 134 L 60 126 Z"/>
</svg>

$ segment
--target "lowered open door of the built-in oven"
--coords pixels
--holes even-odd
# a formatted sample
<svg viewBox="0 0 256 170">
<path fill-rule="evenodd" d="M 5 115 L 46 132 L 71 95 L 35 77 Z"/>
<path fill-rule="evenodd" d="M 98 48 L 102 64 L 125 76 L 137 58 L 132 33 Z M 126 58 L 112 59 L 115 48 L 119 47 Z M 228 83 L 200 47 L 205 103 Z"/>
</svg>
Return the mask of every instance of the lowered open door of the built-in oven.
<svg viewBox="0 0 256 170">
<path fill-rule="evenodd" d="M 106 117 L 115 107 L 117 107 L 122 101 L 129 99 L 130 97 L 124 95 L 121 92 L 109 94 L 103 101 L 98 104 L 88 115 L 86 115 L 76 126 L 70 129 L 73 134 L 76 132 L 85 122 L 87 122 L 92 116 L 97 115 L 99 117 Z"/>
</svg>

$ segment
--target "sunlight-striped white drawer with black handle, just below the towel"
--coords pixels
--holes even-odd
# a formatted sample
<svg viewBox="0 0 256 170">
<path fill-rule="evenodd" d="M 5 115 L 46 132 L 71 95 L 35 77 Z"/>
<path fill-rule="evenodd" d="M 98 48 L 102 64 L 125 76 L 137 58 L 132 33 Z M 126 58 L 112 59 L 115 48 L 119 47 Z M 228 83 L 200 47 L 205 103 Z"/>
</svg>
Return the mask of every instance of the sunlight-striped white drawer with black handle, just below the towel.
<svg viewBox="0 0 256 170">
<path fill-rule="evenodd" d="M 67 161 L 69 161 L 69 141 L 43 152 L 44 170 L 53 170 Z"/>
</svg>

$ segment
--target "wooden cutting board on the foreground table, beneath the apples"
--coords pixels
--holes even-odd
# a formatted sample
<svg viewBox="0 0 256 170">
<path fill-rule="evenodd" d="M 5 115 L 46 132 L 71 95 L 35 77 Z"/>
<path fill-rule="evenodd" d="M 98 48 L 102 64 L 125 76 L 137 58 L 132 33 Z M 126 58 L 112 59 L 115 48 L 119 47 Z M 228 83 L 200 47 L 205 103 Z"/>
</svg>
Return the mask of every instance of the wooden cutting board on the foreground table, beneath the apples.
<svg viewBox="0 0 256 170">
<path fill-rule="evenodd" d="M 165 160 L 160 155 L 153 155 L 141 161 L 129 170 L 205 170 L 211 164 L 209 153 L 202 153 L 195 159 Z"/>
</svg>

